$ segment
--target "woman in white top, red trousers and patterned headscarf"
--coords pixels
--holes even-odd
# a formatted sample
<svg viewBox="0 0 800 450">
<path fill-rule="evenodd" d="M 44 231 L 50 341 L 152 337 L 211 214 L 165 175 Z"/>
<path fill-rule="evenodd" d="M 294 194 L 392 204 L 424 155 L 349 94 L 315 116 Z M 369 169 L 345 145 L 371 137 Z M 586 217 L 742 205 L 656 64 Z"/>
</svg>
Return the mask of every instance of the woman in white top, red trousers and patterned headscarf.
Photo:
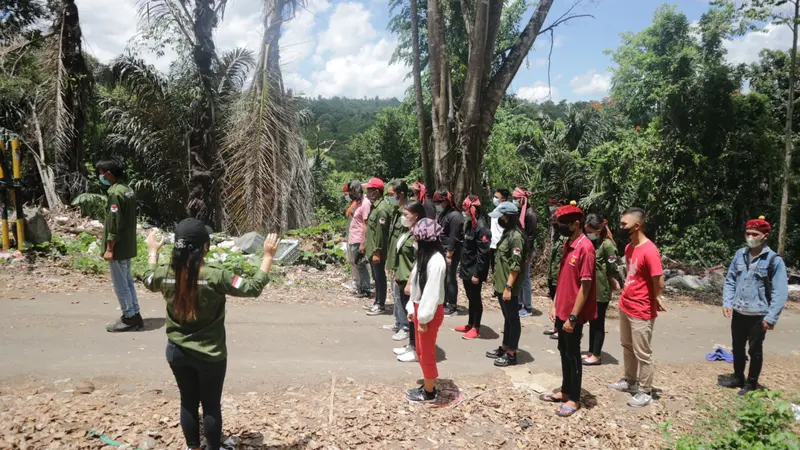
<svg viewBox="0 0 800 450">
<path fill-rule="evenodd" d="M 436 337 L 444 321 L 444 279 L 447 264 L 444 249 L 439 241 L 442 229 L 435 221 L 424 218 L 412 230 L 417 242 L 417 259 L 411 271 L 411 301 L 408 302 L 408 320 L 414 323 L 417 333 L 417 356 L 422 368 L 422 386 L 406 393 L 414 403 L 436 400 Z"/>
</svg>

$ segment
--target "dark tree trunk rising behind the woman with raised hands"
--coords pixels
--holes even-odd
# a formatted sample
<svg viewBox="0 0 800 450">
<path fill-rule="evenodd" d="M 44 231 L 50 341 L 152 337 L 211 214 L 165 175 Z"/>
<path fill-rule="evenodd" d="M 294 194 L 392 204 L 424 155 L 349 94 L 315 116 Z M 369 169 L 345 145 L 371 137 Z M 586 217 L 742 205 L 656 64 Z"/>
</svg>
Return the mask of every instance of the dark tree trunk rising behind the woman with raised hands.
<svg viewBox="0 0 800 450">
<path fill-rule="evenodd" d="M 217 164 L 218 149 L 214 120 L 212 63 L 216 55 L 214 28 L 217 15 L 214 0 L 196 0 L 194 7 L 194 41 L 192 52 L 203 90 L 192 118 L 189 135 L 189 203 L 186 213 L 216 229 L 220 227 L 219 187 L 221 167 Z"/>
</svg>

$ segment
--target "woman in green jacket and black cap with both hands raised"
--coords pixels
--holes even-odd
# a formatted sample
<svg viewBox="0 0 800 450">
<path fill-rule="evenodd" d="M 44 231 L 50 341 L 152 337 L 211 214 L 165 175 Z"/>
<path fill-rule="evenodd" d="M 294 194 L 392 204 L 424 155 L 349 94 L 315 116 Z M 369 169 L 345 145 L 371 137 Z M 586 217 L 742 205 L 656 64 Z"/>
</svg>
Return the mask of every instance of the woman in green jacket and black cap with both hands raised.
<svg viewBox="0 0 800 450">
<path fill-rule="evenodd" d="M 167 362 L 181 394 L 180 422 L 189 449 L 200 449 L 200 414 L 207 448 L 222 445 L 222 385 L 227 370 L 225 296 L 258 297 L 278 250 L 278 237 L 264 241 L 264 258 L 252 278 L 206 263 L 210 236 L 203 222 L 185 219 L 175 228 L 169 264 L 159 264 L 163 244 L 155 232 L 147 237 L 144 285 L 161 292 L 167 304 Z"/>
</svg>

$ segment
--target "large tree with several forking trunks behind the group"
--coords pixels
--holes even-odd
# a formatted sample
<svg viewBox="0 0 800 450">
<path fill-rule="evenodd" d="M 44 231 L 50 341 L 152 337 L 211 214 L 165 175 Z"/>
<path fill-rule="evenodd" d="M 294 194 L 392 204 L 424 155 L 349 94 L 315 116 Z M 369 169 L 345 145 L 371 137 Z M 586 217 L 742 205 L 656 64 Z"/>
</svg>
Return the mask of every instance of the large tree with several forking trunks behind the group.
<svg viewBox="0 0 800 450">
<path fill-rule="evenodd" d="M 480 188 L 480 166 L 495 113 L 536 37 L 580 16 L 570 16 L 568 12 L 543 30 L 553 0 L 539 1 L 525 28 L 504 52 L 499 69 L 490 76 L 504 1 L 476 2 L 474 19 L 467 10 L 471 2 L 461 1 L 464 27 L 469 38 L 469 61 L 456 113 L 439 1 L 428 0 L 434 171 L 438 184 L 449 187 L 456 200 L 460 200 Z"/>
</svg>

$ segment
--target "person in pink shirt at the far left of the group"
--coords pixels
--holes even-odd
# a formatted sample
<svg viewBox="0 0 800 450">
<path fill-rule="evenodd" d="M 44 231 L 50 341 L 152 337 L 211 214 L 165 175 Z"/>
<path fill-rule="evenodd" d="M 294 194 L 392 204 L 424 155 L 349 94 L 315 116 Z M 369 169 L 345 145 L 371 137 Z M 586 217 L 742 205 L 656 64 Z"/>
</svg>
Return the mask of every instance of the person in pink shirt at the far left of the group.
<svg viewBox="0 0 800 450">
<path fill-rule="evenodd" d="M 353 273 L 353 286 L 355 286 L 356 297 L 369 298 L 371 281 L 367 259 L 364 256 L 366 245 L 364 238 L 366 237 L 370 204 L 369 200 L 364 197 L 363 188 L 358 180 L 350 180 L 347 184 L 347 198 L 350 199 L 350 207 L 346 212 L 350 221 L 347 227 L 347 248 Z"/>
</svg>

